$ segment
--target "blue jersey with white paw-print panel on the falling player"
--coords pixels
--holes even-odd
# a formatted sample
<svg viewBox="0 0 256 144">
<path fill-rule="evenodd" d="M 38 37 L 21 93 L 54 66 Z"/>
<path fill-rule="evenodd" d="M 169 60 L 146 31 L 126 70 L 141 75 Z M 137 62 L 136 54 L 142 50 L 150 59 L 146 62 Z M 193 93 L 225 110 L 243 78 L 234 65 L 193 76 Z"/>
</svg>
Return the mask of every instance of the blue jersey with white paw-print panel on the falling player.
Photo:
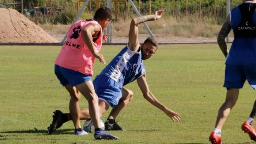
<svg viewBox="0 0 256 144">
<path fill-rule="evenodd" d="M 142 62 L 142 54 L 139 51 L 130 50 L 128 44 L 98 75 L 105 75 L 118 82 L 120 87 L 127 85 L 146 73 Z"/>
</svg>

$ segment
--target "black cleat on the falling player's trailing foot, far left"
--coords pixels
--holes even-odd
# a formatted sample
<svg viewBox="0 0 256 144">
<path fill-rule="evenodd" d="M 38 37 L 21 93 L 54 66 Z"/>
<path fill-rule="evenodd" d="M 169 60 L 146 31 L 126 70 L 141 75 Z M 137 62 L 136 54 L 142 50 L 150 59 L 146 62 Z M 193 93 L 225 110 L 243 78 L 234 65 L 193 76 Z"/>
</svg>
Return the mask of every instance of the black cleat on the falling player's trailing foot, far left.
<svg viewBox="0 0 256 144">
<path fill-rule="evenodd" d="M 53 113 L 54 114 L 52 116 L 52 124 L 50 124 L 50 126 L 47 128 L 48 135 L 52 134 L 54 131 L 56 131 L 56 129 L 60 128 L 63 124 L 61 120 L 61 115 L 63 114 L 63 112 L 61 112 L 60 110 L 55 110 L 55 112 Z"/>
</svg>

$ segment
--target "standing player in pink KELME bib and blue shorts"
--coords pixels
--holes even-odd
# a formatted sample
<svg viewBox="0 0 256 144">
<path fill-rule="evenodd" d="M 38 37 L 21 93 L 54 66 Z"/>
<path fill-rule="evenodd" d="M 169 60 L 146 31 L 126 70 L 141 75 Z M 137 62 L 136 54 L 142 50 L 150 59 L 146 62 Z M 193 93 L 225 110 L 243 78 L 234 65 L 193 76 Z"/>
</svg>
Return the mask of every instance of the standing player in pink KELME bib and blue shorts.
<svg viewBox="0 0 256 144">
<path fill-rule="evenodd" d="M 75 135 L 88 134 L 81 128 L 79 120 L 79 100 L 80 93 L 82 93 L 89 104 L 90 116 L 95 127 L 95 139 L 118 139 L 101 129 L 98 97 L 91 81 L 95 58 L 105 64 L 105 59 L 99 54 L 99 50 L 102 41 L 108 38 L 102 34 L 102 30 L 111 20 L 110 9 L 101 7 L 95 12 L 93 19 L 73 23 L 55 61 L 54 72 L 71 96 L 69 111 L 75 126 Z M 48 127 L 48 134 L 61 127 L 63 124 L 61 117 L 65 117 L 64 115 L 60 110 L 54 112 L 52 124 Z"/>
</svg>

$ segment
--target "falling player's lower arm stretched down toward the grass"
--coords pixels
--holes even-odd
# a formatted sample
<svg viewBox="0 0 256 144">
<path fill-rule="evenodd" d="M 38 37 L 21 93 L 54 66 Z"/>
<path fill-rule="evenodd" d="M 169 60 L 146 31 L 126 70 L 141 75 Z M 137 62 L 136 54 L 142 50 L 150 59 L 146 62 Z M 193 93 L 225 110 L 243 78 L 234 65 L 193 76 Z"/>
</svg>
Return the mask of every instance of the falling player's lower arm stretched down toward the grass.
<svg viewBox="0 0 256 144">
<path fill-rule="evenodd" d="M 148 102 L 150 102 L 152 105 L 165 112 L 165 114 L 172 118 L 173 121 L 180 121 L 181 116 L 178 113 L 173 112 L 171 109 L 168 109 L 165 105 L 163 105 L 161 102 L 157 100 L 153 93 L 149 91 L 146 81 L 146 73 L 142 75 L 142 77 L 137 79 L 137 83 L 140 87 L 140 90 L 142 91 L 143 97 Z"/>
</svg>

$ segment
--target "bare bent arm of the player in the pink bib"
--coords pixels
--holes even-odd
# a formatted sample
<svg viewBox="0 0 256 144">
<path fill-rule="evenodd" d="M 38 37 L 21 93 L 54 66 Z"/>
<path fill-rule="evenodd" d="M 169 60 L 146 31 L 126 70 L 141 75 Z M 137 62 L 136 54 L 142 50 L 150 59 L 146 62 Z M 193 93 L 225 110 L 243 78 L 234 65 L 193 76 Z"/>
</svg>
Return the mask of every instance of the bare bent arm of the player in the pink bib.
<svg viewBox="0 0 256 144">
<path fill-rule="evenodd" d="M 100 62 L 106 64 L 103 55 L 97 53 L 93 45 L 93 35 L 98 34 L 98 32 L 101 32 L 101 28 L 97 24 L 89 24 L 82 30 L 83 40 L 94 57 L 99 59 Z"/>
</svg>

